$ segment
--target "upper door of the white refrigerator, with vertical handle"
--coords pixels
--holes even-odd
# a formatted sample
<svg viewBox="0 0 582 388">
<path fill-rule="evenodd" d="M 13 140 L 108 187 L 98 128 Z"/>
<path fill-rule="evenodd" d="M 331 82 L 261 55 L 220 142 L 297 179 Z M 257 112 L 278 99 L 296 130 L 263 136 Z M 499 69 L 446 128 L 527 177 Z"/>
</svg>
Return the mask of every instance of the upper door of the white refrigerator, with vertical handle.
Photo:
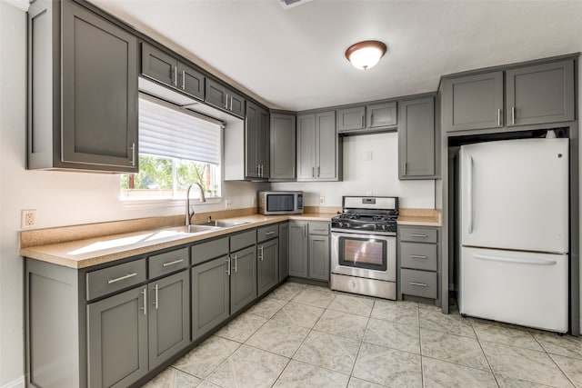
<svg viewBox="0 0 582 388">
<path fill-rule="evenodd" d="M 568 139 L 463 145 L 463 245 L 568 252 Z"/>
</svg>

